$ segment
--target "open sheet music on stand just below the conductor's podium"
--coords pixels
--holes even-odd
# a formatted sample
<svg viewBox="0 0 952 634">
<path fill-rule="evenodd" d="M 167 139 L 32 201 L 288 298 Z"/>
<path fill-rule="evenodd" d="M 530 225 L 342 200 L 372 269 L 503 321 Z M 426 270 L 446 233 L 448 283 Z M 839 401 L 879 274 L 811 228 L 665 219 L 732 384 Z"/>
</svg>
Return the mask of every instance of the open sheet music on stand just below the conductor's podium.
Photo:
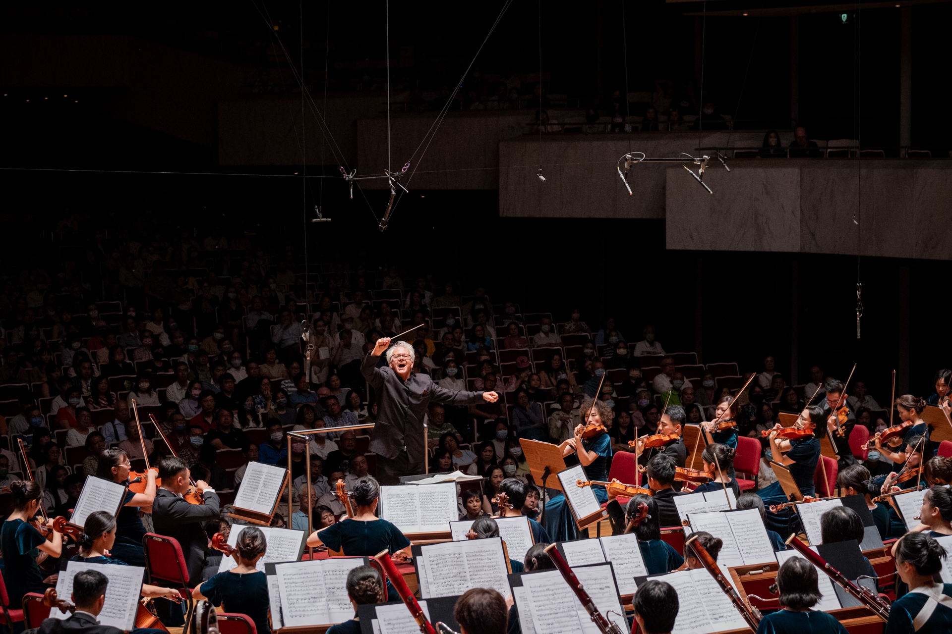
<svg viewBox="0 0 952 634">
<path fill-rule="evenodd" d="M 380 517 L 410 533 L 448 532 L 457 521 L 456 483 L 380 488 Z"/>
</svg>

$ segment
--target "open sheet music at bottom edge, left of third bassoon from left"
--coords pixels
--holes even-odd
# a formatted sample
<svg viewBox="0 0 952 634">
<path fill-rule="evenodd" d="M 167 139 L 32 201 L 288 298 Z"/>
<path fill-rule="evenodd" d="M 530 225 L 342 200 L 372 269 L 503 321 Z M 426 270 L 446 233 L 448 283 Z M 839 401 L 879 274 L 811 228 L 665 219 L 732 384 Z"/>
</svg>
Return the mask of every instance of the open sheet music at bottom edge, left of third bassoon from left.
<svg viewBox="0 0 952 634">
<path fill-rule="evenodd" d="M 704 568 L 669 572 L 651 579 L 664 581 L 678 591 L 678 617 L 671 634 L 713 634 L 747 627 L 744 617 Z"/>
</svg>

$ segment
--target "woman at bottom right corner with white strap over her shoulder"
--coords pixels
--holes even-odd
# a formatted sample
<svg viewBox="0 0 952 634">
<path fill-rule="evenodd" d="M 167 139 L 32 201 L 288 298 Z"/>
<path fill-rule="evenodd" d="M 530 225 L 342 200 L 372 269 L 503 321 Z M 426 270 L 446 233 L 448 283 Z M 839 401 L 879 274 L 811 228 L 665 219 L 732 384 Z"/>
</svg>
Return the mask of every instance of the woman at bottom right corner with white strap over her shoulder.
<svg viewBox="0 0 952 634">
<path fill-rule="evenodd" d="M 897 544 L 896 569 L 911 588 L 889 608 L 885 634 L 946 634 L 952 631 L 952 584 L 933 581 L 945 548 L 931 535 L 906 533 Z"/>
</svg>

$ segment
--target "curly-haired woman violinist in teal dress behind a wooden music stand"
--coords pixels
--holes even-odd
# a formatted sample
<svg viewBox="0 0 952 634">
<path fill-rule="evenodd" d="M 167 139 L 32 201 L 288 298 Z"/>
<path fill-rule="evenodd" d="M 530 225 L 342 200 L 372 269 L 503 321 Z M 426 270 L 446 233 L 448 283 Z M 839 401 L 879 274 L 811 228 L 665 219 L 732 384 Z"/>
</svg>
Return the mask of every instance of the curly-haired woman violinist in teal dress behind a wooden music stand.
<svg viewBox="0 0 952 634">
<path fill-rule="evenodd" d="M 579 411 L 585 414 L 583 424 L 575 428 L 574 435 L 559 445 L 563 456 L 575 453 L 579 463 L 585 468 L 589 480 L 608 480 L 608 458 L 611 456 L 611 438 L 607 432 L 598 432 L 595 435 L 583 438 L 586 426 L 605 429 L 611 427 L 611 420 L 615 413 L 608 408 L 605 401 L 593 401 L 585 397 Z M 608 494 L 605 487 L 595 485 L 592 492 L 599 502 L 607 502 Z M 560 493 L 545 503 L 543 515 L 545 531 L 553 541 L 564 542 L 578 538 L 578 530 L 572 519 L 571 511 L 565 501 L 565 493 Z"/>
</svg>

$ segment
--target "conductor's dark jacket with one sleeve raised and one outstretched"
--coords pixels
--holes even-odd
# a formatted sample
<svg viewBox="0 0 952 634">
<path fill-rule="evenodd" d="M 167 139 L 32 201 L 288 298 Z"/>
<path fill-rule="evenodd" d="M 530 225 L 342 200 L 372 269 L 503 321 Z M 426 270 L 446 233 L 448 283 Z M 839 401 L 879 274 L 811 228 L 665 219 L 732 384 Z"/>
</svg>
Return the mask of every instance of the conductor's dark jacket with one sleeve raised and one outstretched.
<svg viewBox="0 0 952 634">
<path fill-rule="evenodd" d="M 379 360 L 379 356 L 367 354 L 361 367 L 380 405 L 369 449 L 392 460 L 406 445 L 410 464 L 422 463 L 426 451 L 423 417 L 429 402 L 472 405 L 483 399 L 483 393 L 446 390 L 424 374 L 410 375 L 404 381 L 389 367 L 378 368 Z"/>
</svg>

